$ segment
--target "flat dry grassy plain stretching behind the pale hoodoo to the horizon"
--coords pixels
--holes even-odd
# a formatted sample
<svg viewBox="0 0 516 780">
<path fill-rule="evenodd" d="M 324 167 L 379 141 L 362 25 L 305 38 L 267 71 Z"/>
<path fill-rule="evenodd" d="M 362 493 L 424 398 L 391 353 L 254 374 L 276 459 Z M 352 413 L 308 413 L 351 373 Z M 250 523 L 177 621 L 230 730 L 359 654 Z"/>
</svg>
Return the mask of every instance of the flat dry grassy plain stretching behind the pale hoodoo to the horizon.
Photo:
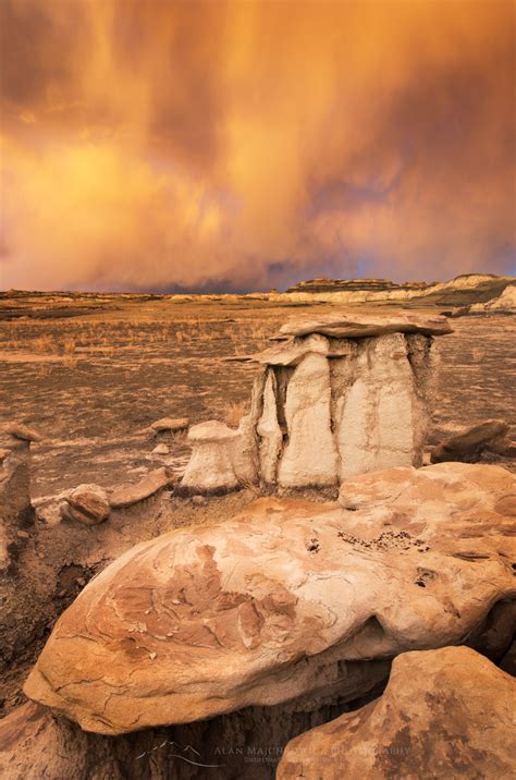
<svg viewBox="0 0 516 780">
<path fill-rule="evenodd" d="M 460 280 L 441 285 L 437 300 L 439 291 L 429 288 L 430 301 L 418 294 L 402 302 L 397 295 L 406 293 L 392 297 L 390 290 L 249 296 L 4 293 L 0 422 L 12 418 L 14 405 L 16 419 L 42 434 L 33 448 L 35 498 L 79 483 L 112 487 L 161 465 L 181 474 L 189 453 L 185 436 L 167 441 L 169 454 L 153 454 L 157 439 L 149 425 L 161 417 L 237 424 L 256 365 L 225 358 L 265 349 L 294 314 L 312 316 L 335 306 L 385 314 L 455 312 L 496 300 L 511 281 L 466 280 L 468 287 Z M 491 417 L 516 426 L 516 326 L 504 312 L 451 320 L 454 332 L 439 341 L 435 429 Z"/>
</svg>

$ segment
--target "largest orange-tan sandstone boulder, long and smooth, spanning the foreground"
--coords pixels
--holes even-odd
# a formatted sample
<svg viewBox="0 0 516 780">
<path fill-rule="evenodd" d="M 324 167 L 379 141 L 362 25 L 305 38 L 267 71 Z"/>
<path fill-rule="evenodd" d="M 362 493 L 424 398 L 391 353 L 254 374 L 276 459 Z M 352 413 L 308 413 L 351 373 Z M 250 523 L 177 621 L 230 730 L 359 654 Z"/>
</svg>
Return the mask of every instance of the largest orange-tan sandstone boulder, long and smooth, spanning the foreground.
<svg viewBox="0 0 516 780">
<path fill-rule="evenodd" d="M 394 468 L 346 483 L 347 509 L 260 499 L 137 545 L 63 613 L 25 692 L 102 733 L 354 699 L 514 596 L 514 491 L 497 466 Z"/>
</svg>

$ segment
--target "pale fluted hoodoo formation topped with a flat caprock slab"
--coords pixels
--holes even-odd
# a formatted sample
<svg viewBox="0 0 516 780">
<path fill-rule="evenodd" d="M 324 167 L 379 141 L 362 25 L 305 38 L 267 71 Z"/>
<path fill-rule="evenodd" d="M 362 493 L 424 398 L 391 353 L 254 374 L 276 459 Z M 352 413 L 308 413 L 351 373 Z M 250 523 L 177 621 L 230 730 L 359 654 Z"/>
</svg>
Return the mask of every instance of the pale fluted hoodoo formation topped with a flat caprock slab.
<svg viewBox="0 0 516 780">
<path fill-rule="evenodd" d="M 191 429 L 182 488 L 331 487 L 421 465 L 434 337 L 450 332 L 444 317 L 415 314 L 291 319 L 270 349 L 245 358 L 261 373 L 238 431 L 216 421 Z"/>
</svg>

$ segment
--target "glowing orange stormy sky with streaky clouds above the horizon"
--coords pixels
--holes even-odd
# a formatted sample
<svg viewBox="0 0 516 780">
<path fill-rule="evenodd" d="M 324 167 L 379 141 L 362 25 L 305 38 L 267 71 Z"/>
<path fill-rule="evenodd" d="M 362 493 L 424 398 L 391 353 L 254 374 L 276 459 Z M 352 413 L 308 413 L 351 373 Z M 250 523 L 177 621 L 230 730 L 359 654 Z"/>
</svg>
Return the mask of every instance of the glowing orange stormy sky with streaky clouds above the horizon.
<svg viewBox="0 0 516 780">
<path fill-rule="evenodd" d="M 516 272 L 515 14 L 1 0 L 0 288 Z"/>
</svg>

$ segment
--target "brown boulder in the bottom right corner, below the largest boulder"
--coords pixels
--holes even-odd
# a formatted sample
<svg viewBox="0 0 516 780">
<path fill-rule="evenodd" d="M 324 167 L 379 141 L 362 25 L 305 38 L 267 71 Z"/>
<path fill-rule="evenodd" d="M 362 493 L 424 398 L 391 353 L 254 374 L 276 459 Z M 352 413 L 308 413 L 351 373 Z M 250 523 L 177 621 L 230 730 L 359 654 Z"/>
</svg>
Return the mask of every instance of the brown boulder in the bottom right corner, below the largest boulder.
<svg viewBox="0 0 516 780">
<path fill-rule="evenodd" d="M 516 681 L 467 647 L 404 653 L 383 695 L 288 743 L 278 780 L 512 778 Z"/>
</svg>

